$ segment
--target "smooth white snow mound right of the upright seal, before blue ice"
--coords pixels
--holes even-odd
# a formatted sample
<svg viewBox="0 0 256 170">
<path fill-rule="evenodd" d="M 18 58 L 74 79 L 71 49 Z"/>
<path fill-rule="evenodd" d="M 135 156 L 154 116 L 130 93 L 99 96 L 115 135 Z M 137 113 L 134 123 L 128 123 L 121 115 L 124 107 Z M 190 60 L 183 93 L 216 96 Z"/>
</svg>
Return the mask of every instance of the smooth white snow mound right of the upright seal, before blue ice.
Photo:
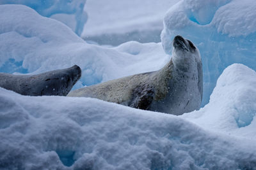
<svg viewBox="0 0 256 170">
<path fill-rule="evenodd" d="M 182 115 L 205 129 L 256 139 L 256 72 L 242 65 L 228 66 L 218 78 L 210 103 Z"/>
</svg>

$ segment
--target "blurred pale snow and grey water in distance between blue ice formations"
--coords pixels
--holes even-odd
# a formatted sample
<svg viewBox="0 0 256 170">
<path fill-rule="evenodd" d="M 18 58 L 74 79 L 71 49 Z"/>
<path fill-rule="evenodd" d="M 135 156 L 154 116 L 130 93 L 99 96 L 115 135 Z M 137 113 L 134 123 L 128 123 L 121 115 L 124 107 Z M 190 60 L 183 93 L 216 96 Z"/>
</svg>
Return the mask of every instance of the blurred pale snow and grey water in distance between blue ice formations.
<svg viewBox="0 0 256 170">
<path fill-rule="evenodd" d="M 88 22 L 81 37 L 101 45 L 160 42 L 164 14 L 178 1 L 87 0 Z"/>
</svg>

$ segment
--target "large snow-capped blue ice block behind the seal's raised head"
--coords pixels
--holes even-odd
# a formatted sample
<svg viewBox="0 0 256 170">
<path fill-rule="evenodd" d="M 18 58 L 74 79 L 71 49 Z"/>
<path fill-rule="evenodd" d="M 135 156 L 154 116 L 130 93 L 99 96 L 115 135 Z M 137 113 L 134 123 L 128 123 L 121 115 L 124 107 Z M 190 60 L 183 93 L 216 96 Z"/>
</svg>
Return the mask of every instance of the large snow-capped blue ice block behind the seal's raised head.
<svg viewBox="0 0 256 170">
<path fill-rule="evenodd" d="M 182 0 L 164 17 L 161 41 L 172 52 L 174 36 L 180 34 L 198 46 L 204 70 L 203 105 L 222 71 L 234 63 L 256 69 L 256 1 Z"/>
</svg>

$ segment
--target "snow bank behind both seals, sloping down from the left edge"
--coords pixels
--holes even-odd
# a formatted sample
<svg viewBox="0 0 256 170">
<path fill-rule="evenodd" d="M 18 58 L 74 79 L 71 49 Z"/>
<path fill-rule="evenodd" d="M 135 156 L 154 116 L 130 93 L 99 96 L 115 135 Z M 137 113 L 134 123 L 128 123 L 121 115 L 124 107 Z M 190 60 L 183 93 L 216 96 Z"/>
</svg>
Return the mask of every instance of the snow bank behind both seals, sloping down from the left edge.
<svg viewBox="0 0 256 170">
<path fill-rule="evenodd" d="M 42 73 L 77 64 L 83 75 L 78 88 L 153 71 L 168 60 L 160 43 L 88 45 L 64 24 L 27 6 L 0 5 L 0 72 Z"/>
</svg>

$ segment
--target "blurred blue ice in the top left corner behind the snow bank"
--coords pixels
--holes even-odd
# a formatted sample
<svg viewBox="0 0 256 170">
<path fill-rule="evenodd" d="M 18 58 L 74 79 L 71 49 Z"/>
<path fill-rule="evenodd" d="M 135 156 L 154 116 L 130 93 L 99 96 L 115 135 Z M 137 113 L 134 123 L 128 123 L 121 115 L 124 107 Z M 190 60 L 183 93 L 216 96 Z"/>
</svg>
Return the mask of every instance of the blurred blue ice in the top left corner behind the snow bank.
<svg viewBox="0 0 256 170">
<path fill-rule="evenodd" d="M 2 0 L 0 4 L 24 4 L 36 10 L 44 17 L 54 18 L 63 22 L 76 32 L 78 36 L 83 31 L 87 21 L 87 13 L 83 10 L 86 0 Z"/>
</svg>

